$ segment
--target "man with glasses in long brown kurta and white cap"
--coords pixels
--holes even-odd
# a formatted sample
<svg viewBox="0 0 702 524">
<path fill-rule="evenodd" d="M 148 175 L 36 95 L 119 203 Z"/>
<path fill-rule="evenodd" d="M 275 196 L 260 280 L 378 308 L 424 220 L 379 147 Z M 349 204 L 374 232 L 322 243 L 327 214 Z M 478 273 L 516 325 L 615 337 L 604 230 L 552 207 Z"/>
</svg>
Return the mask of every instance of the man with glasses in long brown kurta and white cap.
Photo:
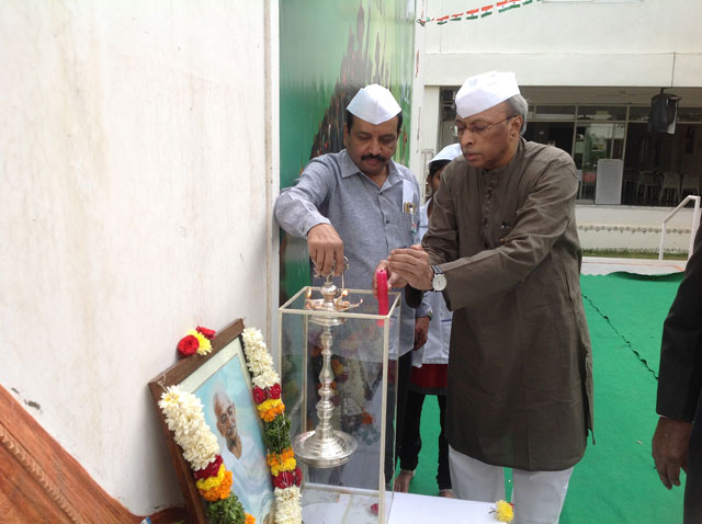
<svg viewBox="0 0 702 524">
<path fill-rule="evenodd" d="M 526 103 L 513 73 L 472 77 L 456 111 L 463 157 L 443 172 L 422 246 L 388 258 L 390 282 L 443 289 L 454 311 L 446 433 L 456 495 L 503 498 L 501 467 L 511 467 L 517 522 L 557 523 L 592 429 L 575 166 L 521 137 Z"/>
</svg>

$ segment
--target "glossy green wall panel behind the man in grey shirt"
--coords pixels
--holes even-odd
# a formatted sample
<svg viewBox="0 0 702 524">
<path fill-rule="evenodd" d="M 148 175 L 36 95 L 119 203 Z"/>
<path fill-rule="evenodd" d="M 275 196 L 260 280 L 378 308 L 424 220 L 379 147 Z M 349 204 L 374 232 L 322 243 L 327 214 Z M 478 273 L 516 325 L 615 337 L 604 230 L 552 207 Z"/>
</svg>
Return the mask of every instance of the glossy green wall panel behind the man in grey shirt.
<svg viewBox="0 0 702 524">
<path fill-rule="evenodd" d="M 343 149 L 346 106 L 369 83 L 388 88 L 403 107 L 395 160 L 407 164 L 414 3 L 280 2 L 281 187 L 293 185 L 310 158 Z M 309 283 L 309 262 L 304 239 L 281 235 L 284 300 Z"/>
</svg>

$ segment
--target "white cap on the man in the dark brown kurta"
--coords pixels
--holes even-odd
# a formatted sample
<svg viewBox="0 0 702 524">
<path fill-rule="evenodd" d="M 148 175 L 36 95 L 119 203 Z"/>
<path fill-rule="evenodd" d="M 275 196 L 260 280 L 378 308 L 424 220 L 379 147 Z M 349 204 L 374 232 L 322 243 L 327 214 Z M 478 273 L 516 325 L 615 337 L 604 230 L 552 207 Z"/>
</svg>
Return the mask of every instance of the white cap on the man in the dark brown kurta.
<svg viewBox="0 0 702 524">
<path fill-rule="evenodd" d="M 520 94 L 517 77 L 508 72 L 484 72 L 468 78 L 456 93 L 456 113 L 461 118 L 489 110 Z"/>
</svg>

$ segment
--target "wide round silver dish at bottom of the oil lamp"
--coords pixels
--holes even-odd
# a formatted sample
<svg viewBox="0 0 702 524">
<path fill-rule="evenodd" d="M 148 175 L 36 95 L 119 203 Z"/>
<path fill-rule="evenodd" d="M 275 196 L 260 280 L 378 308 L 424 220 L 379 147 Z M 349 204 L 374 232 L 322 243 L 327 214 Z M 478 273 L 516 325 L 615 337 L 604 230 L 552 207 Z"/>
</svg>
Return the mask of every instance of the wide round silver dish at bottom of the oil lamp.
<svg viewBox="0 0 702 524">
<path fill-rule="evenodd" d="M 326 438 L 315 431 L 301 433 L 293 438 L 295 457 L 316 468 L 332 468 L 348 463 L 356 446 L 352 435 L 338 430 Z"/>
</svg>

